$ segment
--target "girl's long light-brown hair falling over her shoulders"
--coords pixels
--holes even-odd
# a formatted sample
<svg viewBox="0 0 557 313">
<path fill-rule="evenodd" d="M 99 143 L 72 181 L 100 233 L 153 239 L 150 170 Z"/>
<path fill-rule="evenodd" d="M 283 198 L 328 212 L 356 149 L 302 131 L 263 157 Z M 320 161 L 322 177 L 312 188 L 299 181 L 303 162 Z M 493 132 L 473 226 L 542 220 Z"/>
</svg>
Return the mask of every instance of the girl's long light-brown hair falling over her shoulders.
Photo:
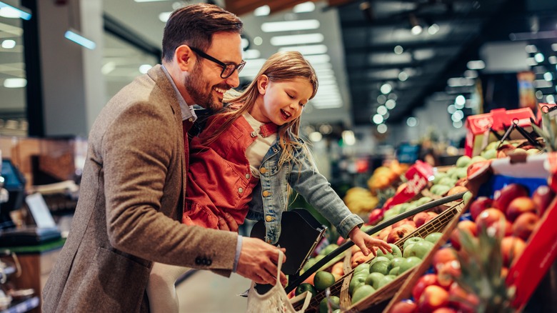
<svg viewBox="0 0 557 313">
<path fill-rule="evenodd" d="M 213 134 L 206 137 L 207 144 L 211 144 L 218 136 L 220 136 L 226 129 L 229 129 L 232 123 L 242 116 L 242 114 L 249 112 L 254 107 L 259 90 L 257 88 L 257 81 L 261 75 L 269 77 L 269 81 L 291 81 L 293 79 L 307 79 L 313 86 L 313 93 L 309 99 L 317 93 L 318 81 L 315 70 L 309 62 L 303 58 L 298 51 L 283 51 L 273 54 L 265 63 L 259 73 L 254 78 L 249 86 L 241 93 L 231 90 L 224 95 L 224 102 L 231 104 L 223 111 L 219 112 L 221 116 L 216 121 L 222 121 L 220 117 L 224 118 L 224 123 L 216 128 Z M 279 159 L 278 165 L 282 166 L 284 162 L 293 159 L 293 149 L 302 147 L 307 149 L 305 145 L 299 141 L 292 140 L 291 136 L 295 139 L 299 138 L 300 131 L 300 116 L 293 119 L 286 124 L 278 127 L 278 142 L 281 145 L 283 152 Z M 209 125 L 211 127 L 212 125 Z"/>
</svg>

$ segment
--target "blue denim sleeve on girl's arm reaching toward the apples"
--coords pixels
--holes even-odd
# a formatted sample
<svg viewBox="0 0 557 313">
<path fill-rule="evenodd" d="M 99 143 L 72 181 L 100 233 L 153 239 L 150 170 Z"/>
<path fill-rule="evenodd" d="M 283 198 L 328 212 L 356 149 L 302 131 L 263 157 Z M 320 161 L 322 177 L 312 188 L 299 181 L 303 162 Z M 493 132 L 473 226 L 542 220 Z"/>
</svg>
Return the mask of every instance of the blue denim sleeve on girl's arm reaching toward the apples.
<svg viewBox="0 0 557 313">
<path fill-rule="evenodd" d="M 321 175 L 308 155 L 299 149 L 296 161 L 291 162 L 288 183 L 331 224 L 339 234 L 347 238 L 353 227 L 361 226 L 363 220 L 350 212 L 331 184 Z"/>
</svg>

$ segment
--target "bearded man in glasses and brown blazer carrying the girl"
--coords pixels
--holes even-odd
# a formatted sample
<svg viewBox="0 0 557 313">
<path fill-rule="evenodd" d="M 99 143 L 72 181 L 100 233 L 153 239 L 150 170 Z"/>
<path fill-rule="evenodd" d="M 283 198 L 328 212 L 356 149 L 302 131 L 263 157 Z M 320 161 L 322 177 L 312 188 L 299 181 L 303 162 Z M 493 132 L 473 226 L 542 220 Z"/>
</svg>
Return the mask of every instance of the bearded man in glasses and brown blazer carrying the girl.
<svg viewBox="0 0 557 313">
<path fill-rule="evenodd" d="M 241 28 L 219 6 L 176 10 L 164 29 L 162 66 L 101 111 L 71 232 L 44 287 L 44 312 L 147 312 L 153 262 L 276 281 L 278 248 L 178 222 L 189 162 L 184 131 L 196 118 L 191 106 L 220 109 L 224 92 L 238 86 Z"/>
</svg>

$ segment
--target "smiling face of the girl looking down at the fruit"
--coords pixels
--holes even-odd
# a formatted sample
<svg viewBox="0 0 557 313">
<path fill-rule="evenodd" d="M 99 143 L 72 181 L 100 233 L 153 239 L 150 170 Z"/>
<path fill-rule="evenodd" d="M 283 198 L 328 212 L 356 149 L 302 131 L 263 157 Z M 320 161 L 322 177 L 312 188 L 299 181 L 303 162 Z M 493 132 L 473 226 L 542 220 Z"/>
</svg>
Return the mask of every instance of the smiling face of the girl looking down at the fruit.
<svg viewBox="0 0 557 313">
<path fill-rule="evenodd" d="M 249 112 L 262 123 L 283 125 L 297 119 L 313 94 L 313 86 L 307 79 L 270 81 L 265 75 L 258 79 L 259 97 Z"/>
</svg>

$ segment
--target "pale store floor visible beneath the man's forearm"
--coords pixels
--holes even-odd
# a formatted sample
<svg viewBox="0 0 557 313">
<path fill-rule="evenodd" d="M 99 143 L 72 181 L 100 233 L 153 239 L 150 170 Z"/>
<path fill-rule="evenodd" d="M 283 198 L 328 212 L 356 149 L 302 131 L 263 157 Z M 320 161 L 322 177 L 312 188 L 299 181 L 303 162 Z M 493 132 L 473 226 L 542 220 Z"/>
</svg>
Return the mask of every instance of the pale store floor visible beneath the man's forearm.
<svg viewBox="0 0 557 313">
<path fill-rule="evenodd" d="M 181 313 L 246 312 L 247 298 L 239 297 L 251 281 L 239 274 L 226 278 L 196 271 L 176 287 Z"/>
</svg>

